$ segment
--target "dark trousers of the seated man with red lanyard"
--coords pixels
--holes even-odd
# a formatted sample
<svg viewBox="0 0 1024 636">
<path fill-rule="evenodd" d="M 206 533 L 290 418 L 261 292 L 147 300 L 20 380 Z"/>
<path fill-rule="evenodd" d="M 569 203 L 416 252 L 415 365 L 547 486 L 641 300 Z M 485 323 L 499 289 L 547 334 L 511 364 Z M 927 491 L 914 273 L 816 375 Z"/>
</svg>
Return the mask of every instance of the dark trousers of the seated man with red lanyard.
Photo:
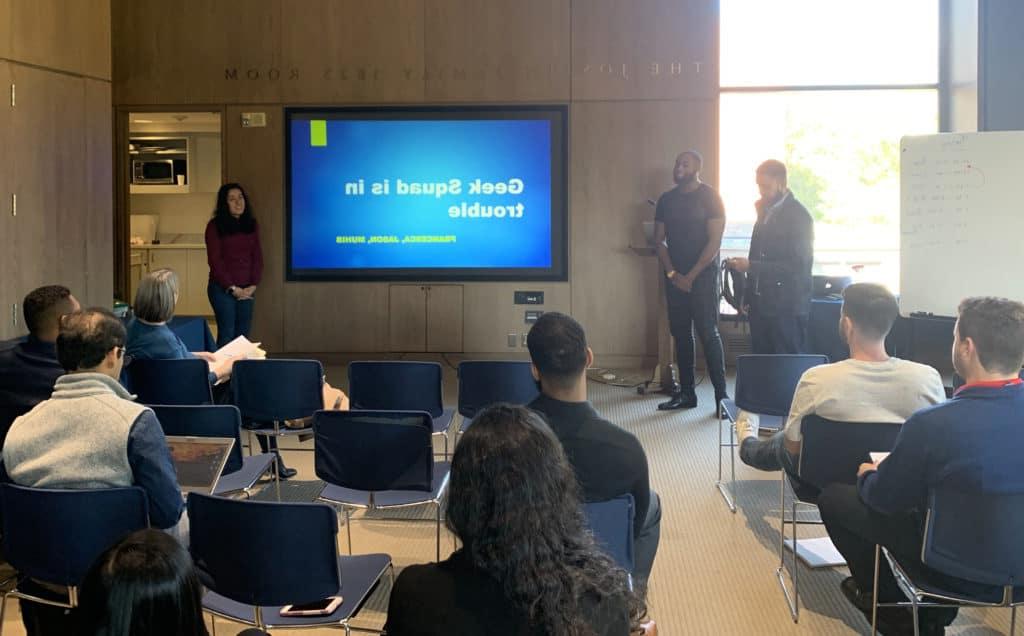
<svg viewBox="0 0 1024 636">
<path fill-rule="evenodd" d="M 846 558 L 857 587 L 865 594 L 870 594 L 872 589 L 876 544 L 887 548 L 897 562 L 913 573 L 915 580 L 924 579 L 941 588 L 964 594 L 990 590 L 986 586 L 943 575 L 921 561 L 924 524 L 920 515 L 882 514 L 860 501 L 857 486 L 840 483 L 826 486 L 821 492 L 818 509 L 828 537 Z M 879 601 L 908 601 L 896 585 L 885 556 L 881 556 L 879 566 Z M 882 608 L 879 610 L 882 611 Z M 923 624 L 949 625 L 956 618 L 955 607 L 922 607 L 920 611 Z"/>
</svg>

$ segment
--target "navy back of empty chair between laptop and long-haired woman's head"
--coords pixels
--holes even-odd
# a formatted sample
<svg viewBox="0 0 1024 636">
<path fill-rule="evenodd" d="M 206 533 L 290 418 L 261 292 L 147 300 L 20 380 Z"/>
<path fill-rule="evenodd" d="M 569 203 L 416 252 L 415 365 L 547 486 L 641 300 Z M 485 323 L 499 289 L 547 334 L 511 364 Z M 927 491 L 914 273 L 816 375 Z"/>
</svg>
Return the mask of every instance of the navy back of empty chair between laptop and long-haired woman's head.
<svg viewBox="0 0 1024 636">
<path fill-rule="evenodd" d="M 313 416 L 316 476 L 356 491 L 430 492 L 432 431 L 422 411 L 319 411 Z"/>
</svg>

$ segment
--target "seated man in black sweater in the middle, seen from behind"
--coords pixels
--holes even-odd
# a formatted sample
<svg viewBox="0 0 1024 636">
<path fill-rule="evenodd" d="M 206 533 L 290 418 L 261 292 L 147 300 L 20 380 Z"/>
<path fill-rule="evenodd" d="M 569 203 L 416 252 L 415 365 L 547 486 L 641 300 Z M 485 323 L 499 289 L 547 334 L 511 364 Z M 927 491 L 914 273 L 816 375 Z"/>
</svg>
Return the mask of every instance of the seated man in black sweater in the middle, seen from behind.
<svg viewBox="0 0 1024 636">
<path fill-rule="evenodd" d="M 541 396 L 529 408 L 543 415 L 562 442 L 585 501 L 605 501 L 629 493 L 636 504 L 634 573 L 641 592 L 654 564 L 662 506 L 647 479 L 647 456 L 630 432 L 598 415 L 587 401 L 587 368 L 594 352 L 572 317 L 549 311 L 526 337 Z"/>
</svg>

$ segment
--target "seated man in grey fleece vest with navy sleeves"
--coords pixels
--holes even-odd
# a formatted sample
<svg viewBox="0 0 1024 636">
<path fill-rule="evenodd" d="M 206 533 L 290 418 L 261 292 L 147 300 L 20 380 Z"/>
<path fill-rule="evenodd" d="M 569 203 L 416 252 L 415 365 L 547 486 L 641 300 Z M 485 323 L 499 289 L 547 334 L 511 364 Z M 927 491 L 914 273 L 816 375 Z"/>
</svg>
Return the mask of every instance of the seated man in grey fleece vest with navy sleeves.
<svg viewBox="0 0 1024 636">
<path fill-rule="evenodd" d="M 150 523 L 172 528 L 184 502 L 157 416 L 118 381 L 124 342 L 124 326 L 105 309 L 61 320 L 57 358 L 68 373 L 49 399 L 14 420 L 0 479 L 39 489 L 137 485 L 150 503 Z M 74 540 L 75 528 L 68 529 Z M 30 634 L 70 633 L 53 627 L 67 620 L 60 608 L 23 602 L 22 616 Z"/>
</svg>

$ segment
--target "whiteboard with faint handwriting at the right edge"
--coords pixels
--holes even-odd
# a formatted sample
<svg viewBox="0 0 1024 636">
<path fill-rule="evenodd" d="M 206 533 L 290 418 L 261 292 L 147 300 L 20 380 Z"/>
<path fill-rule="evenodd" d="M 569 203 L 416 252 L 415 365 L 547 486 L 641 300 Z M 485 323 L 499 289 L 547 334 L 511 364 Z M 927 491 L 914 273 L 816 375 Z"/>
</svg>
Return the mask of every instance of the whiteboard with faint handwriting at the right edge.
<svg viewBox="0 0 1024 636">
<path fill-rule="evenodd" d="M 900 140 L 900 311 L 1024 300 L 1024 131 Z"/>
</svg>

